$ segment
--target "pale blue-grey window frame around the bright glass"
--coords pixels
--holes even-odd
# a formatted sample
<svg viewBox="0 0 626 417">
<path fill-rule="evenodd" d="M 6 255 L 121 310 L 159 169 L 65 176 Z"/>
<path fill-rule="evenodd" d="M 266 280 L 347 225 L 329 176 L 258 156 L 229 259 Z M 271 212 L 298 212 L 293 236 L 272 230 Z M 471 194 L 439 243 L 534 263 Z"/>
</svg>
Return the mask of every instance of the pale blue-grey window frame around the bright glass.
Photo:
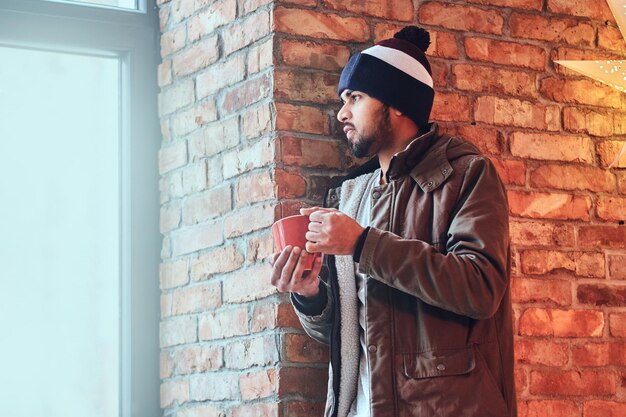
<svg viewBox="0 0 626 417">
<path fill-rule="evenodd" d="M 0 0 L 0 45 L 121 62 L 120 416 L 159 415 L 158 11 Z M 87 416 L 86 416 L 87 417 Z"/>
</svg>

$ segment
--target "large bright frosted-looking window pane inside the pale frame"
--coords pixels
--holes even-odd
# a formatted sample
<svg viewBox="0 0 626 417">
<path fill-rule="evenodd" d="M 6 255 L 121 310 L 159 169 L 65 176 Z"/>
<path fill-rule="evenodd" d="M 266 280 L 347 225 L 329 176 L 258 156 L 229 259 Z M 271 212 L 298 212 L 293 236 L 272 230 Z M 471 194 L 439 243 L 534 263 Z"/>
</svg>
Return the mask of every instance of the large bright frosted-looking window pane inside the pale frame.
<svg viewBox="0 0 626 417">
<path fill-rule="evenodd" d="M 119 416 L 119 61 L 0 62 L 2 414 Z"/>
</svg>

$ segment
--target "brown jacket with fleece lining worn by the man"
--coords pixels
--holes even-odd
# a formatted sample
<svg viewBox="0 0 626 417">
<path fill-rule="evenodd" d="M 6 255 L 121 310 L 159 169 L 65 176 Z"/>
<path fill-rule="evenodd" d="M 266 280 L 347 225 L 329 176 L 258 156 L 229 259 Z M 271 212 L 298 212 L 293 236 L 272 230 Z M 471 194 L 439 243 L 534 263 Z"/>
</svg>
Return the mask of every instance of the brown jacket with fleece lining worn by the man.
<svg viewBox="0 0 626 417">
<path fill-rule="evenodd" d="M 329 190 L 327 205 L 340 193 Z M 358 269 L 368 276 L 372 417 L 516 416 L 508 208 L 493 165 L 433 124 L 394 156 L 371 198 Z M 341 354 L 351 307 L 334 257 L 327 267 L 319 297 L 292 301 L 307 333 L 330 345 L 326 416 L 335 417 L 352 401 L 340 398 L 344 362 L 359 352 Z"/>
</svg>

